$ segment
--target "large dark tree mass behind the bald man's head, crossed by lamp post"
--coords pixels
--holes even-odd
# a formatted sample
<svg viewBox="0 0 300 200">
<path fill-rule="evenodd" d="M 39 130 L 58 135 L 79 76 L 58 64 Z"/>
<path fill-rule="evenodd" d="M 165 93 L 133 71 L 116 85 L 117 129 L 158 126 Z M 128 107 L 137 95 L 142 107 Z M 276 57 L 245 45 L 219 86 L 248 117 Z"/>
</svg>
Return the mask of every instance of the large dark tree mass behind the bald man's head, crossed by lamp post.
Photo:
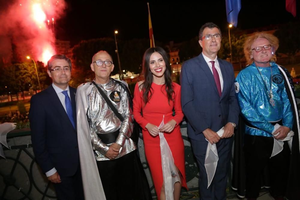
<svg viewBox="0 0 300 200">
<path fill-rule="evenodd" d="M 162 46 L 162 43 L 155 41 L 157 46 Z M 133 39 L 133 40 L 118 40 L 118 50 L 122 70 L 140 73 L 142 68 L 143 54 L 150 47 L 149 39 Z M 163 47 L 163 46 L 162 46 Z M 79 84 L 94 79 L 95 74 L 91 71 L 91 60 L 93 55 L 105 50 L 113 57 L 114 70 L 112 75 L 119 73 L 119 62 L 115 52 L 116 43 L 112 38 L 99 38 L 81 41 L 74 46 L 73 52 L 73 68 L 72 79 L 70 85 L 78 86 Z M 168 51 L 167 51 L 168 52 Z M 123 73 L 123 72 L 122 72 Z"/>
</svg>

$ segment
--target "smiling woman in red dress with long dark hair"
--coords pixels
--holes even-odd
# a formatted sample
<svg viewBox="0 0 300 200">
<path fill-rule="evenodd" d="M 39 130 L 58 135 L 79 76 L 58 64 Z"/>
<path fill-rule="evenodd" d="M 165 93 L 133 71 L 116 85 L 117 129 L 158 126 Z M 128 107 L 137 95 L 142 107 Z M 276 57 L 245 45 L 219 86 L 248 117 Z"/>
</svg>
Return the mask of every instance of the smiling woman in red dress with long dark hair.
<svg viewBox="0 0 300 200">
<path fill-rule="evenodd" d="M 145 154 L 149 163 L 158 200 L 166 199 L 159 132 L 173 155 L 180 182 L 174 184 L 173 197 L 179 199 L 181 186 L 187 188 L 184 169 L 184 144 L 179 123 L 183 113 L 180 101 L 180 85 L 171 80 L 171 67 L 167 53 L 161 47 L 149 48 L 143 56 L 144 81 L 134 89 L 134 118 L 143 128 Z M 175 116 L 173 116 L 175 109 Z M 158 129 L 164 117 L 164 126 Z"/>
</svg>

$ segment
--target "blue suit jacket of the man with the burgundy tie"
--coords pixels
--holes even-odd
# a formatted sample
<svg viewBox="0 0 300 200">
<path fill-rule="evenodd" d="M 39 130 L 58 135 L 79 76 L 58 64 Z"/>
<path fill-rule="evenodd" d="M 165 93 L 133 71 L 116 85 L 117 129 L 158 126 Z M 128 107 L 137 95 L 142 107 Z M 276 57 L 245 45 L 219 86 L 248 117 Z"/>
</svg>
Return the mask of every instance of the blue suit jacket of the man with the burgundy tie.
<svg viewBox="0 0 300 200">
<path fill-rule="evenodd" d="M 214 76 L 202 53 L 185 61 L 181 68 L 181 105 L 187 118 L 191 139 L 204 141 L 202 131 L 218 131 L 227 122 L 238 124 L 239 108 L 235 98 L 232 64 L 218 58 L 223 76 L 223 90 L 218 94 Z"/>
</svg>

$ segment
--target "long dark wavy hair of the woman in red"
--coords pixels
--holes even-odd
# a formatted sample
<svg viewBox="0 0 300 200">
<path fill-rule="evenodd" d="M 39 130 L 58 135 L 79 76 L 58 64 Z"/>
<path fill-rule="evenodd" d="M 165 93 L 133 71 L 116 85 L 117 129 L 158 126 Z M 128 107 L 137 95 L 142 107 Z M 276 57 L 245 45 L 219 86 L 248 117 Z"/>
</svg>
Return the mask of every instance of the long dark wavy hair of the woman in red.
<svg viewBox="0 0 300 200">
<path fill-rule="evenodd" d="M 167 97 L 168 97 L 168 103 L 170 104 L 170 100 L 174 101 L 173 99 L 173 85 L 172 85 L 172 79 L 171 79 L 171 66 L 170 66 L 170 62 L 169 62 L 169 58 L 167 55 L 167 52 L 157 46 L 157 47 L 152 47 L 146 50 L 146 52 L 144 53 L 143 56 L 143 75 L 144 75 L 144 82 L 140 85 L 140 88 L 143 90 L 143 100 L 146 103 L 149 102 L 149 100 L 152 97 L 152 88 L 151 88 L 151 84 L 153 82 L 153 75 L 152 73 L 150 73 L 150 56 L 152 55 L 152 53 L 154 52 L 158 52 L 159 54 L 162 55 L 165 64 L 166 64 L 166 70 L 164 73 L 164 77 L 165 77 L 165 86 L 166 86 L 166 92 L 167 92 Z M 150 96 L 149 96 L 149 92 L 150 92 Z"/>
</svg>

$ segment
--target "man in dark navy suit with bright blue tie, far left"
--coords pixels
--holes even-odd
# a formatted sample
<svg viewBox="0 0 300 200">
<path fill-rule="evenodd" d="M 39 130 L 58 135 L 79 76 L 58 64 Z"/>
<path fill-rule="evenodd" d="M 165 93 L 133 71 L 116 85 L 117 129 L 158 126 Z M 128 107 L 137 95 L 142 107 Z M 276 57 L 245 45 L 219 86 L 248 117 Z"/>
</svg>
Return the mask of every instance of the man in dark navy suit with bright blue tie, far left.
<svg viewBox="0 0 300 200">
<path fill-rule="evenodd" d="M 52 85 L 31 97 L 29 110 L 35 158 L 58 199 L 83 199 L 71 70 L 69 58 L 53 55 L 47 71 Z"/>
</svg>

